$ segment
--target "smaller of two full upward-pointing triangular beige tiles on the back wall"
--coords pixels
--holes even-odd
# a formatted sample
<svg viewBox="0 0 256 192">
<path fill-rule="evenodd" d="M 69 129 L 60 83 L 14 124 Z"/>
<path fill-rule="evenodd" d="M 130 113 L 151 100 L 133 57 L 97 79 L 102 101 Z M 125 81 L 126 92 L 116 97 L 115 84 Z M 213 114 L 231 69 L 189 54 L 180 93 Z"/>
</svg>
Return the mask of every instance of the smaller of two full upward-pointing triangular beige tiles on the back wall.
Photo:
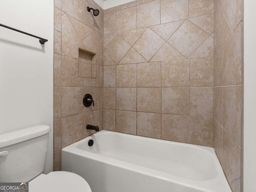
<svg viewBox="0 0 256 192">
<path fill-rule="evenodd" d="M 134 48 L 131 48 L 122 58 L 119 64 L 144 63 L 147 62 Z"/>
</svg>

